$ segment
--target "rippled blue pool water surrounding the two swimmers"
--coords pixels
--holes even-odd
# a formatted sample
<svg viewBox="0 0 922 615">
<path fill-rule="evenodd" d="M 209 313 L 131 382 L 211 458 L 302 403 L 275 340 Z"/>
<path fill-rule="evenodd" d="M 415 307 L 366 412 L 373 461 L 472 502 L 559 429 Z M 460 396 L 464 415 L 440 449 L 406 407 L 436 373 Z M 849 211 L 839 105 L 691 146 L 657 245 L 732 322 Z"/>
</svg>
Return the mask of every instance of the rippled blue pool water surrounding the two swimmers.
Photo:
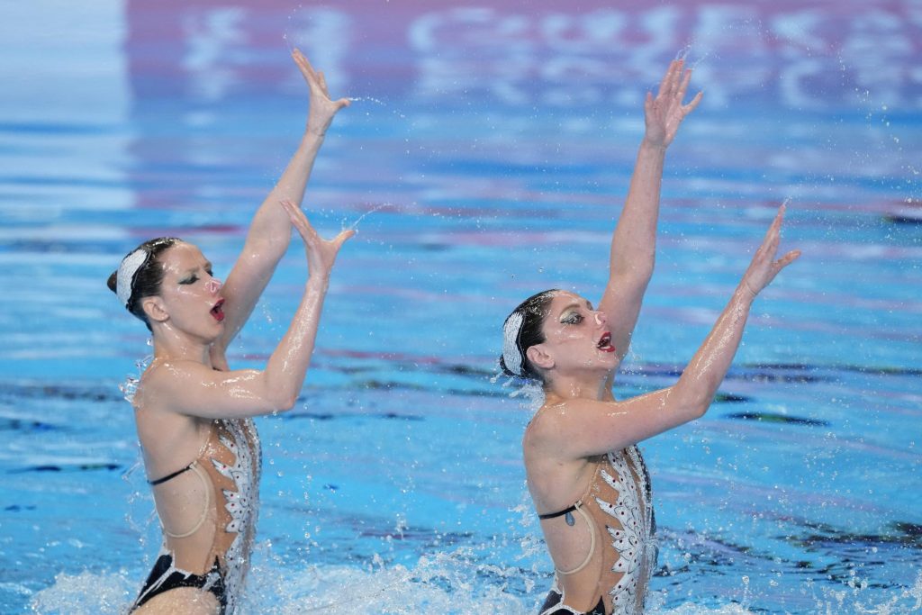
<svg viewBox="0 0 922 615">
<path fill-rule="evenodd" d="M 305 205 L 361 220 L 265 444 L 259 613 L 533 613 L 550 584 L 504 316 L 597 297 L 677 52 L 656 276 L 616 387 L 675 381 L 774 208 L 803 250 L 703 420 L 644 444 L 659 613 L 922 609 L 922 8 L 905 0 L 21 3 L 0 20 L 0 611 L 117 613 L 158 545 L 105 278 L 179 234 L 226 275 L 300 136 L 291 44 L 355 99 Z M 375 210 L 376 207 L 380 207 Z M 295 242 L 297 243 L 297 242 Z M 233 349 L 265 361 L 304 276 Z"/>
</svg>

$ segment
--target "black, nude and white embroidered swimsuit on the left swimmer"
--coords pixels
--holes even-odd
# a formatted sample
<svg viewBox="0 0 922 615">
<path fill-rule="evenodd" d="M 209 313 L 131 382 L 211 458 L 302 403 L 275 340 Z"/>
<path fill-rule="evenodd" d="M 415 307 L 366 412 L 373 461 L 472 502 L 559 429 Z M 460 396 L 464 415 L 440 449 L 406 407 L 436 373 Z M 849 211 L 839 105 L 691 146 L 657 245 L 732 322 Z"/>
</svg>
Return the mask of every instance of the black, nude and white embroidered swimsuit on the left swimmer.
<svg viewBox="0 0 922 615">
<path fill-rule="evenodd" d="M 214 420 L 191 464 L 150 481 L 161 520 L 164 511 L 180 511 L 187 519 L 194 511 L 195 523 L 191 528 L 171 528 L 174 531 L 163 526 L 158 565 L 135 609 L 174 587 L 195 586 L 218 598 L 222 614 L 236 612 L 254 539 L 260 466 L 253 420 Z M 181 475 L 183 479 L 177 480 Z"/>
</svg>

